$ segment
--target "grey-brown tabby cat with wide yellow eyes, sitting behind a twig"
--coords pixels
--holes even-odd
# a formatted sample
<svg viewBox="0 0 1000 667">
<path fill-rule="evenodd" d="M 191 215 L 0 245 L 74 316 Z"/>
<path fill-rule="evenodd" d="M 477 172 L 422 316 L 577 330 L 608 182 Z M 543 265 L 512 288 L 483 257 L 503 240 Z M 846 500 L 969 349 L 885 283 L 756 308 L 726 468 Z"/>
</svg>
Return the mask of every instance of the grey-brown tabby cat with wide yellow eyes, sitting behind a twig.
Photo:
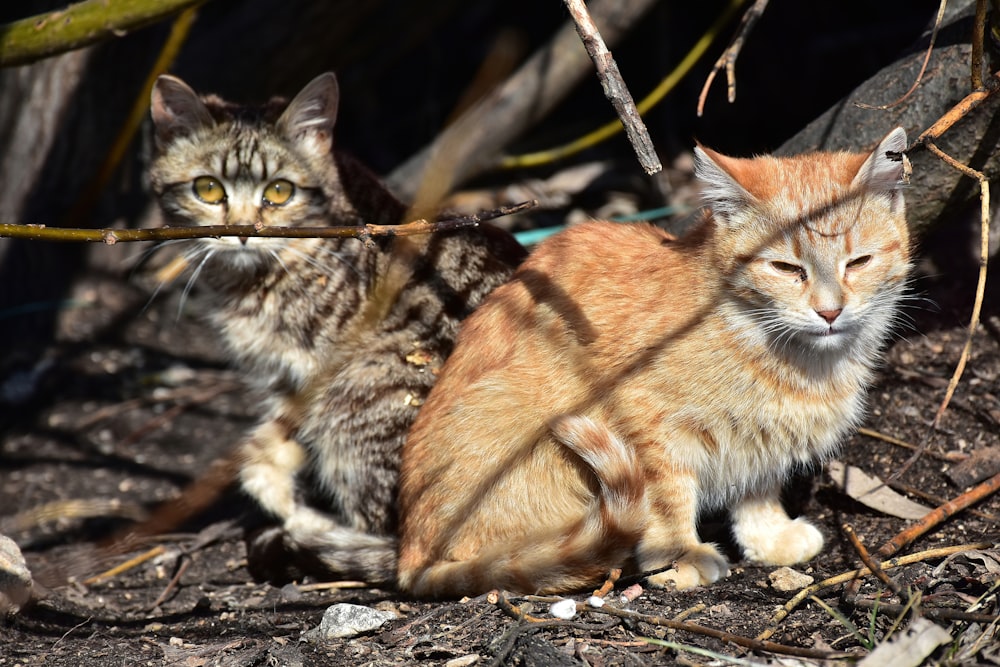
<svg viewBox="0 0 1000 667">
<path fill-rule="evenodd" d="M 289 104 L 199 98 L 162 76 L 151 182 L 170 224 L 396 224 L 405 209 L 333 150 L 333 74 Z M 400 447 L 458 324 L 524 250 L 481 226 L 424 237 L 200 239 L 186 258 L 211 320 L 266 396 L 241 447 L 242 488 L 287 549 L 331 574 L 392 581 Z M 275 538 L 280 538 L 278 543 Z M 267 568 L 266 563 L 262 564 Z"/>
</svg>

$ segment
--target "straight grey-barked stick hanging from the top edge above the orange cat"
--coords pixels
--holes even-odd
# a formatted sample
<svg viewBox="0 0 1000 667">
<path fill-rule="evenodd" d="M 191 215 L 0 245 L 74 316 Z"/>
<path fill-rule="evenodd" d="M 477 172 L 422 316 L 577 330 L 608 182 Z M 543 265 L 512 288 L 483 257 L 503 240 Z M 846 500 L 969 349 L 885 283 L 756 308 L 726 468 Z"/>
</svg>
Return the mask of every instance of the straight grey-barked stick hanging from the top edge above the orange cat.
<svg viewBox="0 0 1000 667">
<path fill-rule="evenodd" d="M 662 171 L 663 165 L 660 164 L 660 158 L 656 155 L 656 149 L 653 148 L 653 140 L 649 138 L 646 124 L 639 117 L 639 111 L 635 108 L 632 94 L 629 92 L 628 86 L 625 85 L 625 81 L 622 80 L 621 72 L 618 71 L 618 63 L 611 56 L 601 33 L 594 25 L 593 19 L 590 18 L 587 6 L 583 4 L 583 0 L 564 1 L 573 17 L 573 22 L 576 24 L 576 32 L 580 35 L 584 48 L 587 49 L 590 59 L 594 61 L 594 66 L 597 68 L 597 77 L 601 80 L 604 96 L 614 106 L 618 118 L 621 119 L 622 125 L 625 127 L 625 135 L 628 137 L 629 143 L 632 144 L 636 157 L 639 158 L 639 164 L 650 175 Z"/>
</svg>

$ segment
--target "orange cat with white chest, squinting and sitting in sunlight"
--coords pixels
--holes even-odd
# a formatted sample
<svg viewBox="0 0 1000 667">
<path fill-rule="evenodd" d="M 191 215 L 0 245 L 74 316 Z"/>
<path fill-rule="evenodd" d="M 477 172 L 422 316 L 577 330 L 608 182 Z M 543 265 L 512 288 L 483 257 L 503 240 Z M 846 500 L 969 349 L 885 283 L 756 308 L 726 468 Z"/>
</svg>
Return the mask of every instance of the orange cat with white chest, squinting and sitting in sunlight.
<svg viewBox="0 0 1000 667">
<path fill-rule="evenodd" d="M 404 446 L 399 585 L 417 596 L 726 576 L 809 560 L 789 473 L 864 413 L 905 288 L 902 129 L 870 154 L 698 148 L 712 213 L 676 239 L 592 222 L 542 244 L 467 321 Z"/>
</svg>

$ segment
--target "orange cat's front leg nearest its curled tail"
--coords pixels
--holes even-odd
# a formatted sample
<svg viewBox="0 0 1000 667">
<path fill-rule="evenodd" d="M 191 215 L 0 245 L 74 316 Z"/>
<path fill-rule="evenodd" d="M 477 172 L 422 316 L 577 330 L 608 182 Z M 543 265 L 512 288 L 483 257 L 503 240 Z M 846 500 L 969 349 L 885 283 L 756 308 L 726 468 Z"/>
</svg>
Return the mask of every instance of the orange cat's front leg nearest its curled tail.
<svg viewBox="0 0 1000 667">
<path fill-rule="evenodd" d="M 658 588 L 704 586 L 729 575 L 729 564 L 715 545 L 698 539 L 698 487 L 694 473 L 677 469 L 647 480 L 652 516 L 636 547 L 643 571 L 669 568 L 647 577 Z"/>
</svg>

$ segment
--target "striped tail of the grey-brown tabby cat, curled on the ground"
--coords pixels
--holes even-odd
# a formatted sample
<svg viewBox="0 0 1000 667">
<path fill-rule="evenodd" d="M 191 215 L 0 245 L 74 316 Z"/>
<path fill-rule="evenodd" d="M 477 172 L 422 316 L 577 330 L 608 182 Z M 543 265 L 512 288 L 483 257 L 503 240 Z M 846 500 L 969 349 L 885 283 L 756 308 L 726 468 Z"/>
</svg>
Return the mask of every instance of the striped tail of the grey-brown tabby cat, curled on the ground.
<svg viewBox="0 0 1000 667">
<path fill-rule="evenodd" d="M 324 579 L 396 582 L 397 539 L 340 525 L 309 508 L 299 508 L 282 525 L 248 540 L 247 561 L 255 578 L 283 581 L 309 573 Z"/>
</svg>

